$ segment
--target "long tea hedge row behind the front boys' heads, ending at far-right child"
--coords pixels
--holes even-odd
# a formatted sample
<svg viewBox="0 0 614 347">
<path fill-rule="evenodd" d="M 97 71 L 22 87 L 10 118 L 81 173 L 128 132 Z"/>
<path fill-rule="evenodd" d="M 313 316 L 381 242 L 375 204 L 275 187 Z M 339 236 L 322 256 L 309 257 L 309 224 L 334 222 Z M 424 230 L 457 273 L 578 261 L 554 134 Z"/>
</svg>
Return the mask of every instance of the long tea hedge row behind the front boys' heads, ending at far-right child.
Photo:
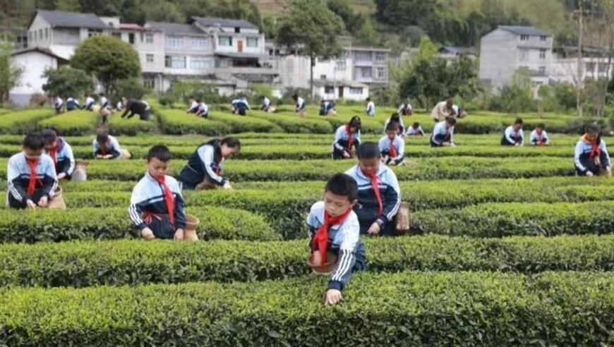
<svg viewBox="0 0 614 347">
<path fill-rule="evenodd" d="M 0 159 L 0 176 L 6 178 L 6 161 Z M 177 176 L 183 160 L 171 162 L 169 174 Z M 235 160 L 224 164 L 222 174 L 230 181 L 325 181 L 338 172 L 354 166 L 354 160 Z M 399 181 L 467 179 L 467 178 L 531 178 L 571 176 L 572 159 L 527 157 L 521 163 L 502 158 L 440 157 L 409 159 L 407 166 L 394 167 Z M 90 179 L 136 181 L 145 173 L 142 159 L 92 160 L 88 166 Z"/>
</svg>

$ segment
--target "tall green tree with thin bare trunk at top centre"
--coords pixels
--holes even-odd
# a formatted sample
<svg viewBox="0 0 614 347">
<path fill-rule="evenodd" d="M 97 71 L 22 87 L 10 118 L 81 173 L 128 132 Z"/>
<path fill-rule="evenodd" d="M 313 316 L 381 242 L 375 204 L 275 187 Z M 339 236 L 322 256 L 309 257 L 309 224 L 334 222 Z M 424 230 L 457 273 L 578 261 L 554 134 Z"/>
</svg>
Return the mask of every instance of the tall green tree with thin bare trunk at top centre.
<svg viewBox="0 0 614 347">
<path fill-rule="evenodd" d="M 342 54 L 337 36 L 344 32 L 343 20 L 327 8 L 323 0 L 294 0 L 281 19 L 277 41 L 298 49 L 311 59 L 310 96 L 313 96 L 315 59 L 329 60 Z"/>
</svg>

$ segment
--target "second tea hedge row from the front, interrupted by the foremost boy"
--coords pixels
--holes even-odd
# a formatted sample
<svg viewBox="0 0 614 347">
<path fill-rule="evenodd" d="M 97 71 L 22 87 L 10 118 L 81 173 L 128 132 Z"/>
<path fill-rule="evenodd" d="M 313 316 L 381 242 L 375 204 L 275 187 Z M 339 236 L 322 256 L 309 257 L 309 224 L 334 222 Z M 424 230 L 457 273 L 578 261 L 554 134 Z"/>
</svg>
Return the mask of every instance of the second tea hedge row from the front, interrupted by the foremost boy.
<svg viewBox="0 0 614 347">
<path fill-rule="evenodd" d="M 368 271 L 614 270 L 614 236 L 366 238 Z M 311 273 L 296 241 L 78 241 L 0 245 L 0 286 L 263 281 Z"/>
</svg>

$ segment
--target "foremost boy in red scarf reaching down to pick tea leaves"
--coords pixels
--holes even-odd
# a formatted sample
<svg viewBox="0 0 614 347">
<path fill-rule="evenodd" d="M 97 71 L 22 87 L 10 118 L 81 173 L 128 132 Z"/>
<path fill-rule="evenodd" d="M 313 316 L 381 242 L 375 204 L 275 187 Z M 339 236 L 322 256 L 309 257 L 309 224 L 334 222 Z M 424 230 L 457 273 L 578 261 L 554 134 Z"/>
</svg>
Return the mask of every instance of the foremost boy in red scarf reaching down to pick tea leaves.
<svg viewBox="0 0 614 347">
<path fill-rule="evenodd" d="M 326 183 L 324 201 L 316 202 L 307 217 L 311 236 L 309 263 L 316 272 L 332 267 L 325 305 L 343 299 L 352 272 L 365 269 L 365 246 L 360 239 L 360 224 L 352 208 L 356 205 L 358 185 L 354 178 L 337 173 Z"/>
</svg>

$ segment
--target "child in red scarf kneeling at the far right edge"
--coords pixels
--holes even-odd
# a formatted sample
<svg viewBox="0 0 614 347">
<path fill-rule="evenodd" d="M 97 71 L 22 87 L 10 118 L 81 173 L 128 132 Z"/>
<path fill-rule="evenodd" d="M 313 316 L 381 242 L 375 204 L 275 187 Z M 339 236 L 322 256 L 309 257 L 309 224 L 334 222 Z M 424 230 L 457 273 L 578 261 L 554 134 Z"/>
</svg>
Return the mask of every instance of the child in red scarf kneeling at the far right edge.
<svg viewBox="0 0 614 347">
<path fill-rule="evenodd" d="M 574 164 L 580 176 L 612 176 L 610 154 L 597 124 L 587 126 L 586 133 L 576 144 Z"/>
</svg>

